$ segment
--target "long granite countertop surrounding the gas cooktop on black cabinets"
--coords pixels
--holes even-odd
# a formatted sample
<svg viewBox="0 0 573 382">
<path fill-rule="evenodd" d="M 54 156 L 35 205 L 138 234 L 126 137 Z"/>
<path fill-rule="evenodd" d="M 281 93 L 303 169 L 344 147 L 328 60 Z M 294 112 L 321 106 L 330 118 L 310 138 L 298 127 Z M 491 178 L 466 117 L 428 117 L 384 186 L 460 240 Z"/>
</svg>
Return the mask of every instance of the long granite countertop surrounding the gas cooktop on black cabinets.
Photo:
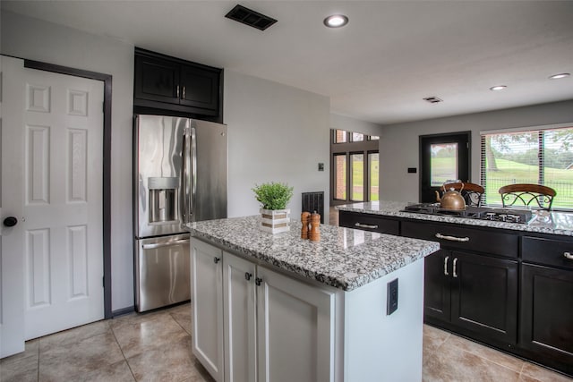
<svg viewBox="0 0 573 382">
<path fill-rule="evenodd" d="M 528 224 L 493 222 L 453 216 L 425 215 L 412 212 L 401 212 L 406 205 L 404 201 L 372 201 L 337 206 L 343 211 L 354 211 L 365 214 L 406 217 L 410 219 L 429 220 L 433 222 L 455 223 L 459 225 L 479 225 L 492 228 L 503 228 L 514 231 L 536 233 L 551 233 L 563 236 L 573 236 L 573 213 L 552 211 L 534 211 L 534 217 Z"/>
</svg>

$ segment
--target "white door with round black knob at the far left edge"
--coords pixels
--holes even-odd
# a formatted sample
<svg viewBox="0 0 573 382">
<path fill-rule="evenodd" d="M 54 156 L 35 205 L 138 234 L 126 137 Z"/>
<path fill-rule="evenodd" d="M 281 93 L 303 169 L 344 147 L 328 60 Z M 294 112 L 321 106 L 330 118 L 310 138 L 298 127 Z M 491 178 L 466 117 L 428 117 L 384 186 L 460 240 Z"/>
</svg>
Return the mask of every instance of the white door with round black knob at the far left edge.
<svg viewBox="0 0 573 382">
<path fill-rule="evenodd" d="M 24 72 L 23 61 L 0 55 L 2 65 L 2 172 L 0 219 L 14 216 L 21 220 L 23 203 L 21 186 L 23 165 L 19 157 L 5 155 L 13 149 L 21 149 L 14 139 L 18 136 L 10 126 L 22 124 L 22 99 L 24 97 L 21 77 Z M 15 182 L 14 182 L 15 179 Z M 2 245 L 0 247 L 0 358 L 24 351 L 24 261 L 21 250 L 22 226 L 0 228 L 2 230 Z"/>
</svg>

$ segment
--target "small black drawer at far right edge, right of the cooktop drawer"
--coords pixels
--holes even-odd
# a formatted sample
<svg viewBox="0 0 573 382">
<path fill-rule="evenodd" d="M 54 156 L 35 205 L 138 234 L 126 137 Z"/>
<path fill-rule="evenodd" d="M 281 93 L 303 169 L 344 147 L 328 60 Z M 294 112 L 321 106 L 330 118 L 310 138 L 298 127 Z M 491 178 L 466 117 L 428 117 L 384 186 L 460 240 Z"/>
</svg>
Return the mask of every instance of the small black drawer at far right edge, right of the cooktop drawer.
<svg viewBox="0 0 573 382">
<path fill-rule="evenodd" d="M 521 257 L 524 261 L 573 269 L 573 259 L 566 256 L 569 253 L 573 257 L 573 242 L 526 236 L 521 244 Z"/>
</svg>

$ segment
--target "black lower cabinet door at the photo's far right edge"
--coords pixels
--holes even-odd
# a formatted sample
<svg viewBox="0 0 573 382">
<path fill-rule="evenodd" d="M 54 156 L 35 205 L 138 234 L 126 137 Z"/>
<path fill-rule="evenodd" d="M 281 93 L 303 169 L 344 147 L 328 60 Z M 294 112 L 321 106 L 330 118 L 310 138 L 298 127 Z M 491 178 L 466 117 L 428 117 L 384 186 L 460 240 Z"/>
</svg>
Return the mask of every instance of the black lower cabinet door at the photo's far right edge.
<svg viewBox="0 0 573 382">
<path fill-rule="evenodd" d="M 573 375 L 573 271 L 522 265 L 520 346 Z"/>
</svg>

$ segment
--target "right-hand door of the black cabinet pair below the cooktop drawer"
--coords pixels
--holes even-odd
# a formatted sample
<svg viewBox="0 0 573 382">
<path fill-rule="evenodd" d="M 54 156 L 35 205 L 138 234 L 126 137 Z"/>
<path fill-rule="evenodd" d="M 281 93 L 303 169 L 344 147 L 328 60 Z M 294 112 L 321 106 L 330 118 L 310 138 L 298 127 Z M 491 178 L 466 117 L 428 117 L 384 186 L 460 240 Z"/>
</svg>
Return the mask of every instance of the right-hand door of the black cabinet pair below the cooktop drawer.
<svg viewBox="0 0 573 382">
<path fill-rule="evenodd" d="M 516 344 L 517 261 L 451 253 L 451 322 Z"/>
</svg>

